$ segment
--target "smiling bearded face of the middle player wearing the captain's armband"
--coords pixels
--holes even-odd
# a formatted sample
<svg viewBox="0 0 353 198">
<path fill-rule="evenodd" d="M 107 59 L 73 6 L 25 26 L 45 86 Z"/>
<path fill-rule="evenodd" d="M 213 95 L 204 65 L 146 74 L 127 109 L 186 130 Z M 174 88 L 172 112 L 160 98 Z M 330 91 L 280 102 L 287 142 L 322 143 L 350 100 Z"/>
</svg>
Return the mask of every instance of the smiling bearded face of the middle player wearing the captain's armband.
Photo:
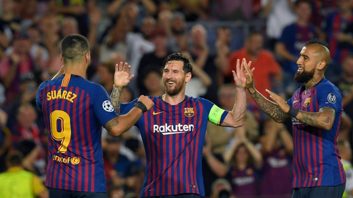
<svg viewBox="0 0 353 198">
<path fill-rule="evenodd" d="M 169 95 L 177 95 L 186 85 L 183 61 L 169 61 L 163 69 L 163 84 Z"/>
</svg>

